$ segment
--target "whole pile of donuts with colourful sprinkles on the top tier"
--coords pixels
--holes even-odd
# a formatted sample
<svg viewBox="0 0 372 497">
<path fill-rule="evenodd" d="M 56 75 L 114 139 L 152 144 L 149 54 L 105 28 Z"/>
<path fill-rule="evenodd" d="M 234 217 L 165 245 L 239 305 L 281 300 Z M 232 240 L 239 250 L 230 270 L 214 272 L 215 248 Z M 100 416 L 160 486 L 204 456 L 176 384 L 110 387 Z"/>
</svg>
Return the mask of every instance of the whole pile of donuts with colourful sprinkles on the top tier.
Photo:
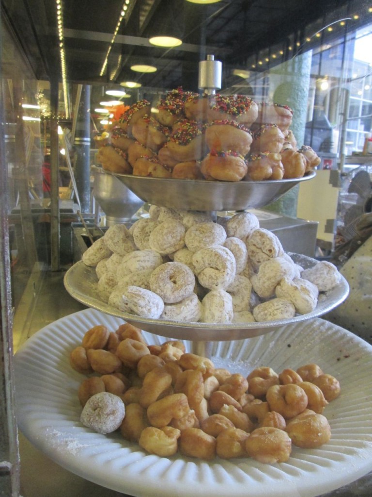
<svg viewBox="0 0 372 497">
<path fill-rule="evenodd" d="M 96 139 L 104 169 L 209 181 L 301 178 L 320 163 L 297 147 L 286 105 L 247 95 L 199 95 L 177 88 L 156 107 L 140 100 Z"/>
</svg>

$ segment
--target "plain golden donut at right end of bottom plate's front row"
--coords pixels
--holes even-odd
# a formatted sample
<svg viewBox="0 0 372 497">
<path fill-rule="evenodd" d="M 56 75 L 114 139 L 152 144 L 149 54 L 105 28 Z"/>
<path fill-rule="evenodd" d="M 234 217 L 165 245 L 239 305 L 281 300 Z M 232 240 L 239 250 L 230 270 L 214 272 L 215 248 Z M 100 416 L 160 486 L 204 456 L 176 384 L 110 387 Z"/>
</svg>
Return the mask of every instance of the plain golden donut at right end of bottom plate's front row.
<svg viewBox="0 0 372 497">
<path fill-rule="evenodd" d="M 290 419 L 286 431 L 297 447 L 313 449 L 327 443 L 331 438 L 331 428 L 323 414 L 303 413 Z"/>
</svg>

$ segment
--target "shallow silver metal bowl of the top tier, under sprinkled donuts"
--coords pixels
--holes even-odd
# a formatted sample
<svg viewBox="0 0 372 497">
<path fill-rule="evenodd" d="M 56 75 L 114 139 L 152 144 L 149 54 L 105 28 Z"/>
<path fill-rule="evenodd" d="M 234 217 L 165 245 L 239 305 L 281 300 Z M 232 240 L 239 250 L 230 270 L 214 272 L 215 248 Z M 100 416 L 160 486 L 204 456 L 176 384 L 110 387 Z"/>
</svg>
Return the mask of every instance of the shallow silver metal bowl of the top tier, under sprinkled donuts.
<svg viewBox="0 0 372 497">
<path fill-rule="evenodd" d="M 229 182 L 107 174 L 120 179 L 149 204 L 194 211 L 240 211 L 264 207 L 298 183 L 315 176 L 312 171 L 296 179 Z"/>
</svg>

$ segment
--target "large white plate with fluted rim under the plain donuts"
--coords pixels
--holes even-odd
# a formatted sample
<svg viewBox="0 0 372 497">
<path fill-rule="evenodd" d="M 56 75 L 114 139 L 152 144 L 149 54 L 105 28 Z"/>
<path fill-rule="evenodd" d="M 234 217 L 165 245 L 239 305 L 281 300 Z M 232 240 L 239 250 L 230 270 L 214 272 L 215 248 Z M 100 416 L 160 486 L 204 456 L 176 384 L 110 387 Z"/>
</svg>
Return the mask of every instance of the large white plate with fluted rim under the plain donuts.
<svg viewBox="0 0 372 497">
<path fill-rule="evenodd" d="M 216 366 L 248 372 L 269 365 L 277 372 L 315 362 L 341 383 L 340 397 L 324 414 L 332 438 L 318 449 L 294 448 L 287 463 L 253 459 L 211 462 L 146 454 L 120 433 L 101 435 L 79 422 L 77 389 L 84 378 L 69 366 L 69 351 L 85 331 L 123 321 L 87 309 L 56 321 L 29 338 L 15 354 L 20 430 L 47 456 L 87 480 L 135 497 L 314 497 L 372 470 L 372 346 L 315 318 L 258 337 L 214 342 Z M 163 337 L 144 332 L 148 343 Z M 191 343 L 185 342 L 187 350 Z"/>
</svg>

